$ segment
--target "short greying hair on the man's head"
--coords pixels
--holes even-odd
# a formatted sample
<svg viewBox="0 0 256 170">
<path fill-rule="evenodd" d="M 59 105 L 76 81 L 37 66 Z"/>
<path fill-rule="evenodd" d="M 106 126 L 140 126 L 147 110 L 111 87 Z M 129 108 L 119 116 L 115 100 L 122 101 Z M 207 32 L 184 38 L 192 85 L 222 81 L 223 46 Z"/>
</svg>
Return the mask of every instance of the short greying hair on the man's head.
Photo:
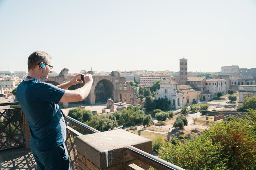
<svg viewBox="0 0 256 170">
<path fill-rule="evenodd" d="M 47 62 L 50 59 L 52 59 L 52 57 L 47 52 L 44 52 L 44 51 L 33 52 L 28 57 L 28 71 L 30 69 L 34 69 L 40 62 L 44 62 L 47 64 Z"/>
</svg>

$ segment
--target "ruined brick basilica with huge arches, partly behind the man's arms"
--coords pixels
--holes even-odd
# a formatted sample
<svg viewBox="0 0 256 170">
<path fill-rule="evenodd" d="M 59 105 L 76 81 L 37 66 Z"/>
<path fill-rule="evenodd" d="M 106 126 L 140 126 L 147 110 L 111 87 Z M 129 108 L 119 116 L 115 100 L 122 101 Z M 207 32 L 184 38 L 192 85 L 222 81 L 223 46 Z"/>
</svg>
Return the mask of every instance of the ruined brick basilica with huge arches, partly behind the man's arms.
<svg viewBox="0 0 256 170">
<path fill-rule="evenodd" d="M 49 76 L 46 82 L 59 85 L 70 81 L 73 76 L 69 76 L 68 71 L 67 68 L 64 68 L 58 76 Z M 93 74 L 92 71 L 88 73 Z M 68 90 L 75 90 L 83 85 L 84 83 L 70 86 Z M 120 73 L 117 71 L 112 71 L 110 75 L 93 75 L 91 91 L 82 103 L 95 105 L 98 102 L 107 102 L 108 99 L 112 99 L 114 102 L 128 103 L 131 105 L 137 104 L 134 89 L 126 82 L 125 77 L 120 77 Z M 64 103 L 64 107 L 68 107 L 68 102 Z"/>
</svg>

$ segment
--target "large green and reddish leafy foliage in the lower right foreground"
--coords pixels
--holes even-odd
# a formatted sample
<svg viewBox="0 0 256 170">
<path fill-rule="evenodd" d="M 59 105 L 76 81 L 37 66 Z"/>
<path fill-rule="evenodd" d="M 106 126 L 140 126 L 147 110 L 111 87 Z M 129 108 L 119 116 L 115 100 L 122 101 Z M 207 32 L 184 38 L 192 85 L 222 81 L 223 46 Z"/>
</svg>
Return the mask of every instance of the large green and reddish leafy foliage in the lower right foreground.
<svg viewBox="0 0 256 170">
<path fill-rule="evenodd" d="M 243 118 L 222 121 L 193 140 L 169 145 L 160 151 L 161 158 L 187 170 L 253 169 L 256 140 L 249 123 Z"/>
</svg>

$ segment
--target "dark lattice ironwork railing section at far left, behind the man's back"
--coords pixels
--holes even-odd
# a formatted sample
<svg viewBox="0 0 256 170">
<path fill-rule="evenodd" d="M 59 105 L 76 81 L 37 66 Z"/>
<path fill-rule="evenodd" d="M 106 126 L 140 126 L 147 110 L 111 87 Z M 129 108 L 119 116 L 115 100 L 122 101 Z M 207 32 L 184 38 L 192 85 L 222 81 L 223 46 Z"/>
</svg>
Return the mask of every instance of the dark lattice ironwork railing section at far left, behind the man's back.
<svg viewBox="0 0 256 170">
<path fill-rule="evenodd" d="M 24 146 L 23 111 L 18 102 L 0 103 L 0 150 Z M 6 108 L 5 108 L 6 107 Z"/>
</svg>

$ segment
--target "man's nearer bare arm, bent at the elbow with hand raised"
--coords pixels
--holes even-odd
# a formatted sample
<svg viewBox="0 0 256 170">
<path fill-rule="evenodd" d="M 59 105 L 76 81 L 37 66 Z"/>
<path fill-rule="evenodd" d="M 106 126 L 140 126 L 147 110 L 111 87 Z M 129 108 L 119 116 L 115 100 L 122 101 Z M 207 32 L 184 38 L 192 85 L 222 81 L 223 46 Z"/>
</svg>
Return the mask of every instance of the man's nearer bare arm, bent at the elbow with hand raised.
<svg viewBox="0 0 256 170">
<path fill-rule="evenodd" d="M 60 102 L 79 102 L 85 99 L 91 90 L 92 87 L 92 75 L 86 74 L 84 76 L 85 85 L 76 90 L 66 90 Z"/>
</svg>

